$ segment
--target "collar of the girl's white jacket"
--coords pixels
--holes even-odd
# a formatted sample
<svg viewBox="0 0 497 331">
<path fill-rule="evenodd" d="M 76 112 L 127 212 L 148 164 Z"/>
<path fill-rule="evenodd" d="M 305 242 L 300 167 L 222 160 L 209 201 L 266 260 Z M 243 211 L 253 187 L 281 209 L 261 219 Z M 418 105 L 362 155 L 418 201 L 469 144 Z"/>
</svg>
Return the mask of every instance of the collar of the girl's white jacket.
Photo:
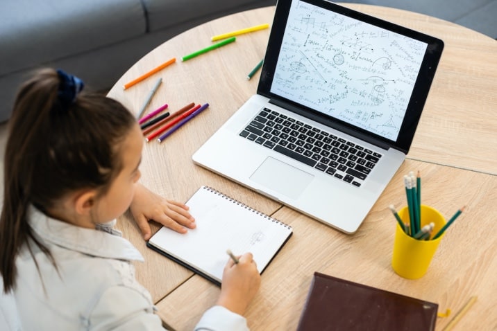
<svg viewBox="0 0 497 331">
<path fill-rule="evenodd" d="M 48 217 L 34 206 L 28 211 L 28 223 L 42 240 L 57 246 L 99 258 L 144 261 L 142 254 L 121 232 L 113 229 L 116 220 L 86 229 Z"/>
</svg>

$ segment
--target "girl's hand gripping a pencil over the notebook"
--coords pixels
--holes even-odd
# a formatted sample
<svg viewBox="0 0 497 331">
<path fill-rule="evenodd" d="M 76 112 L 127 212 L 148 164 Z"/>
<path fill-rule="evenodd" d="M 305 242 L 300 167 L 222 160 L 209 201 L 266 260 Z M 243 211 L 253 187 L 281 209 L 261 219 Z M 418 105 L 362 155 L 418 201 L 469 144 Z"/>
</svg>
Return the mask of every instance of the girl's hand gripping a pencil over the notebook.
<svg viewBox="0 0 497 331">
<path fill-rule="evenodd" d="M 259 287 L 260 274 L 252 254 L 245 253 L 240 256 L 238 263 L 230 258 L 224 267 L 221 294 L 217 305 L 243 315 Z"/>
</svg>

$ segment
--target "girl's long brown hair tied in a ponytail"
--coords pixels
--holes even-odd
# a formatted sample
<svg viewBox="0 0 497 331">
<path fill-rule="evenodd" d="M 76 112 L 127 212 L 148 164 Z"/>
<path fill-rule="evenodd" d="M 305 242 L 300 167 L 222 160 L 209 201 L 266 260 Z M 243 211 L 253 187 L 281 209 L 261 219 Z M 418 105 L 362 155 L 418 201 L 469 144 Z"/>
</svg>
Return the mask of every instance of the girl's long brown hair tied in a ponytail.
<svg viewBox="0 0 497 331">
<path fill-rule="evenodd" d="M 106 193 L 123 167 L 120 143 L 136 123 L 121 103 L 101 94 L 82 92 L 68 104 L 58 96 L 60 85 L 53 69 L 35 73 L 19 89 L 8 123 L 0 216 L 0 273 L 6 293 L 15 287 L 19 250 L 28 244 L 31 251 L 30 238 L 56 266 L 33 235 L 28 207 L 46 212 L 81 188 Z"/>
</svg>

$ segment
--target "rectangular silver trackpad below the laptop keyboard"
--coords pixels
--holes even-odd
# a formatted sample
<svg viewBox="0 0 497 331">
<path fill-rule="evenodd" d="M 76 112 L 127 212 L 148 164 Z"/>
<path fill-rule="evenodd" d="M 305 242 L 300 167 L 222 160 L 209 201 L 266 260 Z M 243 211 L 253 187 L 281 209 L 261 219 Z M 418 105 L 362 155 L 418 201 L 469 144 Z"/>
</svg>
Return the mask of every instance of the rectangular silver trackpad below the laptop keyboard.
<svg viewBox="0 0 497 331">
<path fill-rule="evenodd" d="M 268 157 L 250 179 L 278 193 L 297 199 L 314 178 L 313 175 L 292 165 Z"/>
</svg>

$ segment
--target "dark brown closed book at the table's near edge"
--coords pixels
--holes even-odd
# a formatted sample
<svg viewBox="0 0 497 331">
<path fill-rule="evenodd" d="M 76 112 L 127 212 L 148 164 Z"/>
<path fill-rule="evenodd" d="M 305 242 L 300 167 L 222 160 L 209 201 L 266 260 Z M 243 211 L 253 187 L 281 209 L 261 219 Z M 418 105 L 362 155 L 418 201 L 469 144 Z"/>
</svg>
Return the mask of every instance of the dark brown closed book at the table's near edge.
<svg viewBox="0 0 497 331">
<path fill-rule="evenodd" d="M 438 305 L 314 272 L 297 330 L 435 330 Z"/>
</svg>

